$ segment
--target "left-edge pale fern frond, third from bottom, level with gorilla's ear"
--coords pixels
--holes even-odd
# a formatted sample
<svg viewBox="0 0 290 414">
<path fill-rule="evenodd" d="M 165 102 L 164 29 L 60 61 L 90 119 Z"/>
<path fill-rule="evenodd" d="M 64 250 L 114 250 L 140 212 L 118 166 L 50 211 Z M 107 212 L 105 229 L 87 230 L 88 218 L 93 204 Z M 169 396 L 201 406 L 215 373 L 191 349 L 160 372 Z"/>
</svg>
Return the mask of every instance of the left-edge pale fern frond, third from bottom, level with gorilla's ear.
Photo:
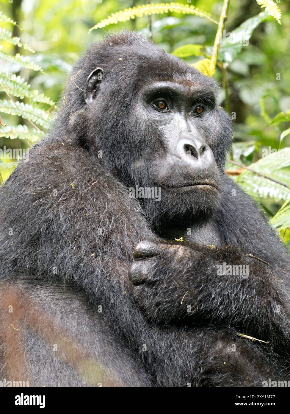
<svg viewBox="0 0 290 414">
<path fill-rule="evenodd" d="M 38 94 L 38 91 L 31 91 L 29 88 L 30 85 L 21 76 L 16 76 L 15 73 L 0 71 L 0 90 L 7 91 L 10 95 L 17 96 L 20 99 L 26 97 L 33 102 L 47 103 L 50 106 L 55 106 L 55 102 L 48 98 L 48 96 Z"/>
</svg>

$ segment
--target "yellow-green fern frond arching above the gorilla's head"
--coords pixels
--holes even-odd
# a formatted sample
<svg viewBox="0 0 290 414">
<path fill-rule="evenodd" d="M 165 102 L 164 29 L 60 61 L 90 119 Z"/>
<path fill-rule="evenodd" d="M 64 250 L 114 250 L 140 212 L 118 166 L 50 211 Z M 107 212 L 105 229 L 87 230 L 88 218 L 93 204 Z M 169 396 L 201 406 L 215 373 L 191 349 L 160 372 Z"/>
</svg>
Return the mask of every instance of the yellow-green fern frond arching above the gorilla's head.
<svg viewBox="0 0 290 414">
<path fill-rule="evenodd" d="M 211 22 L 218 24 L 216 20 L 211 17 L 211 14 L 197 9 L 192 5 L 180 4 L 180 3 L 156 3 L 156 4 L 144 4 L 137 7 L 129 7 L 128 9 L 116 12 L 108 16 L 106 19 L 101 20 L 98 24 L 89 29 L 89 33 L 93 29 L 100 29 L 101 27 L 108 26 L 109 24 L 116 24 L 118 22 L 126 22 L 129 19 L 135 19 L 135 17 L 142 17 L 143 15 L 149 16 L 151 14 L 163 14 L 168 12 L 182 13 L 182 14 L 195 14 L 200 17 L 205 17 Z"/>
</svg>

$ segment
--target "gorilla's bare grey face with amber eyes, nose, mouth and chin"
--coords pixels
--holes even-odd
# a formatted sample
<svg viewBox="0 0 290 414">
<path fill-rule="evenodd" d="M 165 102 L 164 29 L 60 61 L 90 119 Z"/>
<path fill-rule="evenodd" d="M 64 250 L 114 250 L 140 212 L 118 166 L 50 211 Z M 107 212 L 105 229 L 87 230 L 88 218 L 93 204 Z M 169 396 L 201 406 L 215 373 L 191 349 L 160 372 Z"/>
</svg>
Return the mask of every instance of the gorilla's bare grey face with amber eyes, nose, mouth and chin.
<svg viewBox="0 0 290 414">
<path fill-rule="evenodd" d="M 213 90 L 185 82 L 153 82 L 142 91 L 141 104 L 157 138 L 157 150 L 148 154 L 148 185 L 161 189 L 159 204 L 153 207 L 152 200 L 145 200 L 146 209 L 159 222 L 187 226 L 192 219 L 204 221 L 217 207 L 220 181 L 211 150 L 217 117 Z"/>
</svg>

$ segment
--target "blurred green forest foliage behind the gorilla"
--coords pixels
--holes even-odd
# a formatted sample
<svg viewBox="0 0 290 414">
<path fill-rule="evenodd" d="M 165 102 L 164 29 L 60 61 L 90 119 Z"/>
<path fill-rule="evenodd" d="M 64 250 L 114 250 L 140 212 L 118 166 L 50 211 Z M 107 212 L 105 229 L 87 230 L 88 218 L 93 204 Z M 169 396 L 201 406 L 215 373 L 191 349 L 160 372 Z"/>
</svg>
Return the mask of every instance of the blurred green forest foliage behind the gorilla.
<svg viewBox="0 0 290 414">
<path fill-rule="evenodd" d="M 223 1 L 216 0 L 179 2 L 194 5 L 210 13 L 217 21 L 223 6 Z M 229 158 L 243 166 L 250 166 L 254 171 L 280 184 L 230 163 L 226 166 L 227 173 L 259 201 L 277 233 L 289 245 L 290 157 L 285 148 L 290 147 L 290 130 L 284 134 L 283 131 L 290 128 L 290 1 L 275 3 L 282 12 L 281 24 L 273 17 L 268 17 L 254 29 L 248 46 L 243 46 L 228 59 L 222 55 L 218 58 L 226 71 L 228 109 L 234 122 L 234 144 Z M 44 94 L 55 102 L 60 99 L 61 105 L 62 87 L 72 64 L 89 43 L 98 41 L 107 32 L 121 31 L 124 28 L 149 36 L 147 16 L 110 24 L 90 33 L 89 29 L 109 14 L 142 4 L 146 4 L 146 0 L 0 0 L 0 12 L 17 22 L 22 30 L 5 22 L 5 19 L 0 21 L 0 28 L 12 32 L 12 36 L 18 36 L 35 53 L 6 41 L 4 36 L 0 40 L 0 52 L 10 56 L 17 53 L 28 55 L 31 62 L 40 65 L 44 72 L 22 67 L 15 61 L 7 60 L 5 56 L 3 58 L 1 54 L 0 71 L 2 75 L 9 73 L 20 76 L 31 85 L 31 91 L 37 90 L 38 94 Z M 232 32 L 247 19 L 264 10 L 255 0 L 230 1 L 225 30 Z M 217 25 L 208 19 L 192 14 L 168 12 L 152 15 L 151 24 L 153 41 L 166 51 L 172 53 L 181 46 L 199 44 L 204 46 L 204 53 L 210 55 Z M 187 56 L 185 60 L 195 63 L 201 58 L 204 56 Z M 3 100 L 9 99 L 5 93 L 7 88 L 1 89 L 1 72 L 0 115 L 2 124 L 6 127 L 0 127 L 0 148 L 26 148 L 40 133 L 31 130 L 31 124 L 21 113 L 9 114 L 7 104 L 3 103 Z M 214 77 L 220 84 L 220 105 L 226 107 L 225 79 L 218 67 Z M 20 78 L 17 79 L 16 83 L 23 82 Z M 2 86 L 3 82 L 4 80 Z M 24 104 L 31 101 L 37 103 L 39 110 L 43 111 L 40 117 L 44 119 L 47 116 L 47 120 L 38 122 L 35 114 L 31 119 L 45 133 L 45 127 L 49 127 L 49 119 L 56 111 L 51 102 L 45 103 L 44 99 L 36 102 L 34 98 L 29 99 L 28 94 L 25 96 L 20 93 L 14 95 L 13 99 Z M 11 134 L 7 129 L 11 125 L 23 125 L 25 133 Z M 26 126 L 31 134 L 30 139 Z M 269 155 L 275 149 L 281 150 L 282 156 L 279 157 L 278 152 Z M 11 161 L 0 157 L 2 181 L 5 181 L 14 168 Z M 283 209 L 278 212 L 282 205 Z M 277 212 L 278 215 L 273 219 Z"/>
</svg>

